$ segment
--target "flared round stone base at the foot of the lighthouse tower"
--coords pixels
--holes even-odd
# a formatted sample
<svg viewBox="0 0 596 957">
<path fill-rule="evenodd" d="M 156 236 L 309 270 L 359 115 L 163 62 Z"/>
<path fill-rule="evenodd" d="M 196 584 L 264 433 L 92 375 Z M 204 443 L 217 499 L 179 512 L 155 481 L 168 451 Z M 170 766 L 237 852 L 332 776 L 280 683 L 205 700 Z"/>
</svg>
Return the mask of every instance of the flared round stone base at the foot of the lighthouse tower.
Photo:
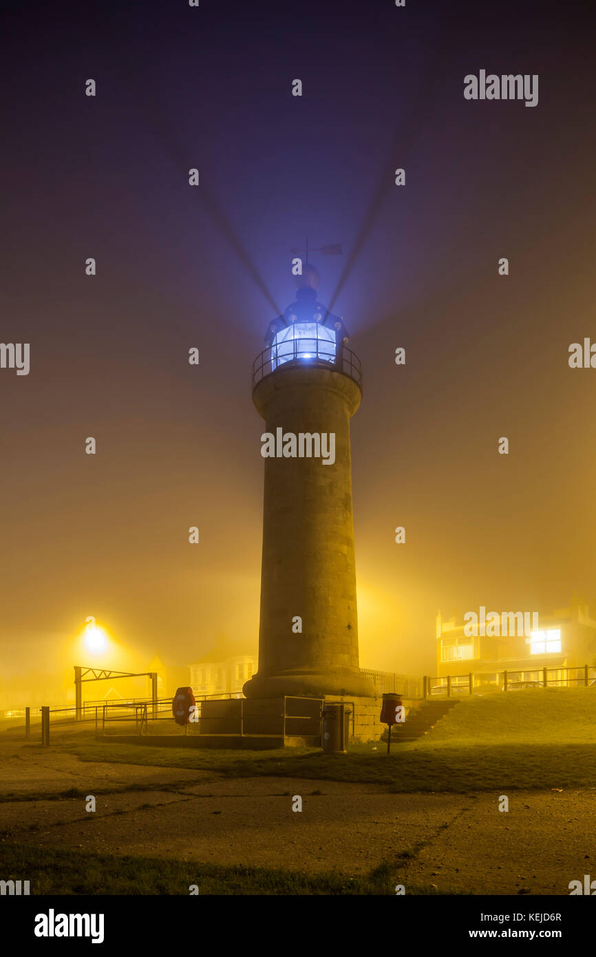
<svg viewBox="0 0 596 957">
<path fill-rule="evenodd" d="M 355 698 L 374 698 L 373 682 L 362 672 L 338 668 L 333 672 L 296 670 L 280 675 L 259 675 L 248 680 L 242 691 L 247 698 L 320 698 L 328 695 L 351 695 Z"/>
</svg>

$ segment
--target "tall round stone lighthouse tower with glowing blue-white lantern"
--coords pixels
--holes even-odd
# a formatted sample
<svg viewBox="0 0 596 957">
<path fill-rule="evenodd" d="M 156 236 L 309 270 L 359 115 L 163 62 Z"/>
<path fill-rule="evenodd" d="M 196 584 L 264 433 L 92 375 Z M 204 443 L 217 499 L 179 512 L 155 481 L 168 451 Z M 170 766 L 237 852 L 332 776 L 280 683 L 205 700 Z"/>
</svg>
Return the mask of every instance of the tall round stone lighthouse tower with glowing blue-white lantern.
<svg viewBox="0 0 596 957">
<path fill-rule="evenodd" d="M 358 660 L 349 430 L 362 400 L 361 365 L 340 317 L 317 300 L 314 266 L 297 280 L 296 301 L 270 324 L 253 367 L 253 401 L 266 423 L 265 490 L 258 671 L 244 694 L 368 697 L 374 688 Z"/>
</svg>

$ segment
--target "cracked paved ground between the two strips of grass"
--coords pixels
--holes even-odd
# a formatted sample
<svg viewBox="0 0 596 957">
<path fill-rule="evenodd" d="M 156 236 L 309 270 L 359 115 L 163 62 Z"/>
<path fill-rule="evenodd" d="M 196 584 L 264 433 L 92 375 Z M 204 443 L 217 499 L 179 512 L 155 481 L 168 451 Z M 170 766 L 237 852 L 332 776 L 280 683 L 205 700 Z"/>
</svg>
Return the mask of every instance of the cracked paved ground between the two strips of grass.
<svg viewBox="0 0 596 957">
<path fill-rule="evenodd" d="M 596 878 L 593 788 L 515 791 L 509 811 L 499 812 L 497 793 L 389 794 L 383 786 L 337 781 L 231 780 L 27 751 L 17 757 L 0 749 L 2 792 L 28 798 L 0 803 L 0 838 L 41 854 L 72 847 L 348 877 L 389 860 L 406 892 L 426 886 L 444 894 L 568 894 L 570 880 L 592 872 Z M 123 785 L 153 790 L 119 792 Z M 86 812 L 80 797 L 34 797 L 70 787 L 98 790 L 96 812 Z M 293 811 L 298 796 L 302 810 Z"/>
</svg>

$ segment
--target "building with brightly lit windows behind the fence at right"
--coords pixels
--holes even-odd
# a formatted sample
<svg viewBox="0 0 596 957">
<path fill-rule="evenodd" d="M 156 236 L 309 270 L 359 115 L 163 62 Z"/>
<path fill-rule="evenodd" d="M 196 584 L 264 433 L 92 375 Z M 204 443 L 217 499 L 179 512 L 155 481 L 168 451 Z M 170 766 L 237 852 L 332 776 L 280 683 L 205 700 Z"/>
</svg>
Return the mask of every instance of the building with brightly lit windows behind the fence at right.
<svg viewBox="0 0 596 957">
<path fill-rule="evenodd" d="M 508 686 L 541 683 L 544 668 L 549 685 L 574 685 L 584 682 L 585 665 L 596 664 L 596 616 L 584 597 L 574 593 L 568 608 L 539 613 L 534 620 L 529 612 L 525 621 L 522 612 L 497 612 L 498 620 L 489 620 L 487 609 L 481 612 L 476 627 L 471 627 L 469 613 L 466 620 L 453 615 L 447 621 L 438 612 L 435 687 L 445 687 L 449 675 L 453 690 L 458 678 L 462 689 L 469 690 L 471 673 L 476 689 L 502 688 L 504 672 Z"/>
</svg>

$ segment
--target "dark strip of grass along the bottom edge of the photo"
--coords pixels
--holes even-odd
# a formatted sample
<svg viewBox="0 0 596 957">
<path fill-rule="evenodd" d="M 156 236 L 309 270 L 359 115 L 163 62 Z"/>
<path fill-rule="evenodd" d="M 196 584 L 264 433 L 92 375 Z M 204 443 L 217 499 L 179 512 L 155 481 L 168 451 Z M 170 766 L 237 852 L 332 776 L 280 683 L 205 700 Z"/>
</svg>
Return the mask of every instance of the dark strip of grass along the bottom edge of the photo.
<svg viewBox="0 0 596 957">
<path fill-rule="evenodd" d="M 400 883 L 401 858 L 381 865 L 363 877 L 337 872 L 307 875 L 258 867 L 219 867 L 192 861 L 154 857 L 93 854 L 77 850 L 3 843 L 3 879 L 31 881 L 32 895 L 147 895 L 188 896 L 196 884 L 200 895 L 395 895 Z M 428 885 L 412 886 L 408 895 L 437 893 Z M 445 891 L 443 891 L 445 893 Z"/>
</svg>

